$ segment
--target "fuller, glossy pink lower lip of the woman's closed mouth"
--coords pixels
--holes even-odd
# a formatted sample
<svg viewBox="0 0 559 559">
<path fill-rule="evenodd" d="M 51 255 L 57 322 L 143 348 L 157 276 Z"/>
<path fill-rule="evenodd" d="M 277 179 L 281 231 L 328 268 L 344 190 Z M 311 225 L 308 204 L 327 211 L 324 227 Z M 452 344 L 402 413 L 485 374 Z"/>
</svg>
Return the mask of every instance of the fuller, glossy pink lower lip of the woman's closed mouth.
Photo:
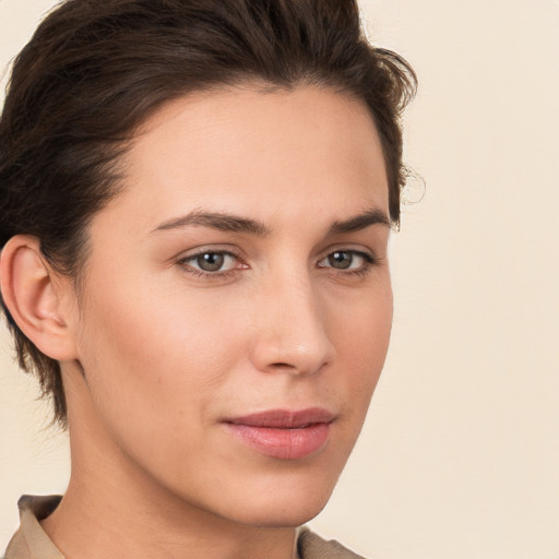
<svg viewBox="0 0 559 559">
<path fill-rule="evenodd" d="M 280 460 L 298 460 L 324 447 L 330 424 L 312 424 L 300 429 L 280 429 L 225 424 L 229 432 L 261 454 Z"/>
</svg>

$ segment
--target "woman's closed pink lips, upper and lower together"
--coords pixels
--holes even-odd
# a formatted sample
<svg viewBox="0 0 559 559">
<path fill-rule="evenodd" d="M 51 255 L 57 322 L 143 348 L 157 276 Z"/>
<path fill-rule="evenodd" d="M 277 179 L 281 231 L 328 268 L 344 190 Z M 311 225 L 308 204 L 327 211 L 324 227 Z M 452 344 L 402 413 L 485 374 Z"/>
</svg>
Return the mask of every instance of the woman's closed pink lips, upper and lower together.
<svg viewBox="0 0 559 559">
<path fill-rule="evenodd" d="M 317 453 L 330 438 L 334 414 L 312 407 L 270 409 L 227 418 L 228 432 L 253 450 L 280 460 L 299 460 Z"/>
</svg>

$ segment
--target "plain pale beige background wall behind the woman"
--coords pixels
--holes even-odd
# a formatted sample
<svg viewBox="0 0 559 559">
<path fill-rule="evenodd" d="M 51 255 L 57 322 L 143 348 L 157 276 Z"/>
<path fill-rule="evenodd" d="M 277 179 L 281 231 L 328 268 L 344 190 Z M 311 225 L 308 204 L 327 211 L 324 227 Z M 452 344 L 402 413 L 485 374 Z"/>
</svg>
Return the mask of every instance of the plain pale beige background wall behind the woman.
<svg viewBox="0 0 559 559">
<path fill-rule="evenodd" d="M 0 64 L 53 2 L 0 0 Z M 559 558 L 558 0 L 364 0 L 415 66 L 393 239 L 393 343 L 312 525 L 379 559 Z M 412 185 L 408 197 L 421 189 Z M 1 332 L 0 547 L 22 492 L 60 492 L 63 437 Z"/>
</svg>

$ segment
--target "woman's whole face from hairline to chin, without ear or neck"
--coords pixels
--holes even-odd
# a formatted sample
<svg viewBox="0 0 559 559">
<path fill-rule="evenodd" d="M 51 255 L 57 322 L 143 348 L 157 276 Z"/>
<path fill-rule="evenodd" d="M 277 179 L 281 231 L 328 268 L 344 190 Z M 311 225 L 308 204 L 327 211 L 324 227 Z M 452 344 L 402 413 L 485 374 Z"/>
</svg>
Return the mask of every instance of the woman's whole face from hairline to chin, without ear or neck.
<svg viewBox="0 0 559 559">
<path fill-rule="evenodd" d="M 123 192 L 91 225 L 71 433 L 87 425 L 83 452 L 141 473 L 144 495 L 306 522 L 354 447 L 391 329 L 366 107 L 311 87 L 192 95 L 123 164 Z"/>
</svg>

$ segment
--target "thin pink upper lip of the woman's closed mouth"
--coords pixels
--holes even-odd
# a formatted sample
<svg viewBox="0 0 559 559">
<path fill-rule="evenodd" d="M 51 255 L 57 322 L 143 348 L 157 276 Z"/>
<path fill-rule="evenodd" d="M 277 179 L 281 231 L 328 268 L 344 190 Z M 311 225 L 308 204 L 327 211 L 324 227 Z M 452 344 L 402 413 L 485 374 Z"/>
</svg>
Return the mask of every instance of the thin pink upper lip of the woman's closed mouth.
<svg viewBox="0 0 559 559">
<path fill-rule="evenodd" d="M 269 409 L 239 417 L 227 418 L 225 423 L 248 427 L 272 427 L 276 429 L 300 429 L 313 424 L 330 424 L 335 416 L 321 407 L 307 409 Z"/>
</svg>

